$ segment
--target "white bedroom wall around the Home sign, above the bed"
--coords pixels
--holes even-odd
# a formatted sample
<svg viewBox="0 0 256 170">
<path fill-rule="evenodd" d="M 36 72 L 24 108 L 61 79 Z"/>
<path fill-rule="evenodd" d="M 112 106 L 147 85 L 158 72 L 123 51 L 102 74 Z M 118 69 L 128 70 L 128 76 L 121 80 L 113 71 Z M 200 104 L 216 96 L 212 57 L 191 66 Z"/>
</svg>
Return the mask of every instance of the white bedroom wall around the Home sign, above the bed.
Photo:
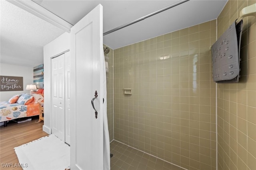
<svg viewBox="0 0 256 170">
<path fill-rule="evenodd" d="M 23 91 L 0 92 L 0 101 L 8 101 L 14 94 L 29 93 L 29 91 L 25 89 L 27 84 L 33 84 L 33 69 L 33 67 L 0 63 L 1 76 L 23 77 Z"/>
</svg>

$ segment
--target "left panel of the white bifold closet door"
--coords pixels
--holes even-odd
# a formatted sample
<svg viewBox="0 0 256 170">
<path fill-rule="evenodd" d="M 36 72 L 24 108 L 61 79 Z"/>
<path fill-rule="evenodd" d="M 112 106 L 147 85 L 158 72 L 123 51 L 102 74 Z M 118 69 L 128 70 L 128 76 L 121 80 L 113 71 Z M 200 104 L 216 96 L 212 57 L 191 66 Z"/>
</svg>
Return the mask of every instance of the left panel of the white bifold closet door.
<svg viewBox="0 0 256 170">
<path fill-rule="evenodd" d="M 65 141 L 65 55 L 52 59 L 52 133 Z"/>
</svg>

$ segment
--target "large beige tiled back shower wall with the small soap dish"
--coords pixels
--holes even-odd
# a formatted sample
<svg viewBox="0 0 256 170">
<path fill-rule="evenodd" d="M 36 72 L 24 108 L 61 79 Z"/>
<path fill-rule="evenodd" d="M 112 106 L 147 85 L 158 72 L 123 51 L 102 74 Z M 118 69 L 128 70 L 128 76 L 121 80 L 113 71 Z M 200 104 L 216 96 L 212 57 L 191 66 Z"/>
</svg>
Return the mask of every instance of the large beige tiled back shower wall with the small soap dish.
<svg viewBox="0 0 256 170">
<path fill-rule="evenodd" d="M 114 139 L 183 168 L 215 170 L 215 41 L 213 20 L 115 49 Z"/>
</svg>

